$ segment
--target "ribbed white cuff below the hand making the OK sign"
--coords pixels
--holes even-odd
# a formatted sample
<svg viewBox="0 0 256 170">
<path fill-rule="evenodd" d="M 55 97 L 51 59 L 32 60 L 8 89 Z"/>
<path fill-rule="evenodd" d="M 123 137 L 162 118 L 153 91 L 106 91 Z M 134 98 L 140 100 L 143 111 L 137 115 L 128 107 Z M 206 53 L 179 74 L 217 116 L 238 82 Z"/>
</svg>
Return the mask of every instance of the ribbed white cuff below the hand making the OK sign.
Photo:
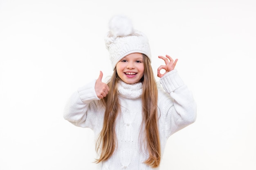
<svg viewBox="0 0 256 170">
<path fill-rule="evenodd" d="M 175 89 L 184 85 L 184 82 L 180 78 L 180 75 L 178 74 L 176 69 L 166 73 L 162 78 L 160 78 L 160 83 L 162 84 L 164 90 L 167 93 L 171 93 Z"/>
</svg>

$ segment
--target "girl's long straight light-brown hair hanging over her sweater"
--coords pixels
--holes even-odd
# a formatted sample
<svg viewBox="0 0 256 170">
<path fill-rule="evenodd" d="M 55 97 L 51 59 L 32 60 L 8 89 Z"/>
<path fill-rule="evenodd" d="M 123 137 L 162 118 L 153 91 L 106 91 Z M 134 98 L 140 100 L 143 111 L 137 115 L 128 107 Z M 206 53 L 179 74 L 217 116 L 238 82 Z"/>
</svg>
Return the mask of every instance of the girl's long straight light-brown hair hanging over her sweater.
<svg viewBox="0 0 256 170">
<path fill-rule="evenodd" d="M 153 168 L 158 167 L 161 159 L 161 148 L 158 131 L 158 116 L 157 116 L 157 85 L 150 61 L 143 54 L 144 76 L 141 78 L 142 83 L 142 113 L 143 123 L 145 124 L 145 142 L 149 153 L 146 164 Z M 107 83 L 110 91 L 108 95 L 102 99 L 106 107 L 103 128 L 96 142 L 96 150 L 99 153 L 99 159 L 96 163 L 106 161 L 115 152 L 117 145 L 115 133 L 115 120 L 120 111 L 118 100 L 117 83 L 120 80 L 115 68 L 110 81 Z"/>
</svg>

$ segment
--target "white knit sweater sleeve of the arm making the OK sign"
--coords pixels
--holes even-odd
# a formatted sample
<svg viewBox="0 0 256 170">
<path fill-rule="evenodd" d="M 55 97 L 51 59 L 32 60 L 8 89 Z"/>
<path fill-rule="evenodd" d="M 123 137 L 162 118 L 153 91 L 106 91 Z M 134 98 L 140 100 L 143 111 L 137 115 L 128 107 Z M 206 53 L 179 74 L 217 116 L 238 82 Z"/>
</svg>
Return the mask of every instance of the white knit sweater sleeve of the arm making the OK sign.
<svg viewBox="0 0 256 170">
<path fill-rule="evenodd" d="M 177 70 L 166 73 L 160 83 L 168 94 L 159 97 L 164 112 L 167 137 L 195 122 L 196 103 L 192 93 L 180 78 Z M 169 99 L 167 100 L 166 97 Z"/>
</svg>

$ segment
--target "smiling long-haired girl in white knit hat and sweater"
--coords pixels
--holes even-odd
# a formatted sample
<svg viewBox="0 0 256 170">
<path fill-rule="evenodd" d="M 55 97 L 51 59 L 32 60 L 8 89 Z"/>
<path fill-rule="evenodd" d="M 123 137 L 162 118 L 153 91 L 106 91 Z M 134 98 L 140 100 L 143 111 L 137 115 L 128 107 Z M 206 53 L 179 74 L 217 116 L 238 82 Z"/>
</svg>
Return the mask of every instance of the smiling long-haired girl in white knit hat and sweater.
<svg viewBox="0 0 256 170">
<path fill-rule="evenodd" d="M 103 83 L 100 72 L 79 88 L 64 118 L 94 131 L 99 170 L 157 170 L 168 137 L 195 121 L 195 101 L 175 70 L 177 59 L 159 56 L 166 65 L 155 82 L 148 39 L 126 17 L 110 20 L 105 42 L 112 77 Z"/>
</svg>

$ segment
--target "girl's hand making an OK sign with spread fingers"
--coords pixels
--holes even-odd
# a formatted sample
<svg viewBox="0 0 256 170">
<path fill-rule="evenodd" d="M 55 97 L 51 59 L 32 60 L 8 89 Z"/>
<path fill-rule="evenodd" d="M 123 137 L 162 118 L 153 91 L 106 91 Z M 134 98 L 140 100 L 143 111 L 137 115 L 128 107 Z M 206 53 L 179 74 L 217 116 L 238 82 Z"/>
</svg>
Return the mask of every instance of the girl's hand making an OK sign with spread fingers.
<svg viewBox="0 0 256 170">
<path fill-rule="evenodd" d="M 158 56 L 159 59 L 163 59 L 164 62 L 165 62 L 165 65 L 160 65 L 160 67 L 157 69 L 157 76 L 160 77 L 160 78 L 162 76 L 164 76 L 166 73 L 171 72 L 172 70 L 174 70 L 175 65 L 178 61 L 178 59 L 175 59 L 175 61 L 173 61 L 173 59 L 168 55 L 166 55 L 166 57 Z M 162 70 L 162 69 L 165 70 L 164 74 L 160 73 L 160 70 Z"/>
</svg>

